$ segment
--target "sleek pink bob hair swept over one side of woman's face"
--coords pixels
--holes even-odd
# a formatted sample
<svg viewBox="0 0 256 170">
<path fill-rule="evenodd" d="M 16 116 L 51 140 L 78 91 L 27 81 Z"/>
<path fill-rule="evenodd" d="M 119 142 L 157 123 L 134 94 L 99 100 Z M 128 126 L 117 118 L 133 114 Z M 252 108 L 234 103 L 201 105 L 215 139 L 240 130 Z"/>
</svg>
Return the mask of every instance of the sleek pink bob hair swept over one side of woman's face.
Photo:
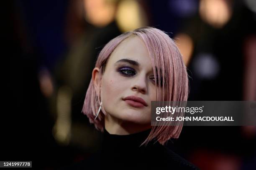
<svg viewBox="0 0 256 170">
<path fill-rule="evenodd" d="M 100 76 L 104 74 L 105 65 L 115 48 L 131 35 L 137 35 L 143 40 L 151 57 L 156 86 L 156 101 L 187 101 L 188 97 L 188 75 L 187 67 L 184 64 L 182 55 L 175 42 L 164 31 L 152 27 L 138 28 L 110 40 L 101 50 L 95 67 L 100 68 Z M 158 71 L 160 70 L 160 74 Z M 161 85 L 160 85 L 161 84 Z M 95 119 L 100 107 L 100 92 L 95 90 L 93 80 L 84 100 L 82 112 L 87 115 L 90 123 L 95 125 L 97 130 L 103 132 L 104 117 L 106 112 L 101 107 L 100 113 Z M 164 145 L 171 138 L 179 138 L 182 125 L 154 125 L 146 140 L 141 144 L 146 144 L 153 139 Z"/>
</svg>

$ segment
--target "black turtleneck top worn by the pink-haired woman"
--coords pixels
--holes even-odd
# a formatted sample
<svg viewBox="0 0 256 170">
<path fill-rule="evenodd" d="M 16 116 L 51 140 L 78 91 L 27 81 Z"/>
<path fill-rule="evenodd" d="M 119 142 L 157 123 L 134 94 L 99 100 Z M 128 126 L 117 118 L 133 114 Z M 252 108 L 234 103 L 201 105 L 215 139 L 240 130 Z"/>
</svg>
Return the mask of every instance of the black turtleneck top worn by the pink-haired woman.
<svg viewBox="0 0 256 170">
<path fill-rule="evenodd" d="M 141 145 L 150 131 L 130 135 L 112 135 L 104 130 L 100 153 L 72 169 L 198 169 L 157 141 Z"/>
</svg>

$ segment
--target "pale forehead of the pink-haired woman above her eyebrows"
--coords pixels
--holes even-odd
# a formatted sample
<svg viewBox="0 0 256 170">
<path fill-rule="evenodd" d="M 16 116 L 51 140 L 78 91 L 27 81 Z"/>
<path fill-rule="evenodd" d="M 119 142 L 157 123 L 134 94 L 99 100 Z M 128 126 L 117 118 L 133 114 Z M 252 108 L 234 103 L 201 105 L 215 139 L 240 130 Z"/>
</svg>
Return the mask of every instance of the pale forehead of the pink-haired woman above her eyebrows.
<svg viewBox="0 0 256 170">
<path fill-rule="evenodd" d="M 112 52 L 109 63 L 114 64 L 121 59 L 137 61 L 141 66 L 152 67 L 151 58 L 148 55 L 146 45 L 140 37 L 131 35 L 123 40 Z"/>
</svg>

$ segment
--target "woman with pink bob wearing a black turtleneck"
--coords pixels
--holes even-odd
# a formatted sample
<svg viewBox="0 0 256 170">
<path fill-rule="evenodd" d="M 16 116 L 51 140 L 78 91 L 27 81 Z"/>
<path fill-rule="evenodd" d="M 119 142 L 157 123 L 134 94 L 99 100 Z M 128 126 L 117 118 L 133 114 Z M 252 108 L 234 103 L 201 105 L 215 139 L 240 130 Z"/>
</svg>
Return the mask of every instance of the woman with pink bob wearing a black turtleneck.
<svg viewBox="0 0 256 170">
<path fill-rule="evenodd" d="M 186 101 L 187 70 L 174 41 L 146 27 L 125 32 L 100 52 L 82 112 L 103 132 L 94 168 L 196 169 L 164 144 L 182 126 L 151 126 L 151 101 Z M 96 169 L 97 169 L 96 168 Z"/>
</svg>

